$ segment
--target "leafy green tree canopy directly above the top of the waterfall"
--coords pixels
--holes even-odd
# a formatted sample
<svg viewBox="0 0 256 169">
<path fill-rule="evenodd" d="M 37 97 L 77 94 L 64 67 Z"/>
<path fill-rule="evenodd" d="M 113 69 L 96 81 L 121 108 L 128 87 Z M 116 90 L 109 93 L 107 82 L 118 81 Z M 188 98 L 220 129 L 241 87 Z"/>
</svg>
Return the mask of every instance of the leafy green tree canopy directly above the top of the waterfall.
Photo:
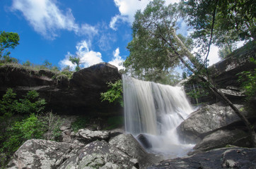
<svg viewBox="0 0 256 169">
<path fill-rule="evenodd" d="M 161 0 L 151 1 L 143 12 L 136 12 L 133 39 L 127 46 L 130 54 L 124 61 L 129 74 L 142 80 L 165 81 L 172 71 L 170 68 L 179 64 L 177 54 L 168 44 L 174 40 L 170 32 L 178 29 L 176 22 L 179 18 L 178 4 L 165 6 Z M 191 39 L 178 37 L 191 49 Z M 175 49 L 178 48 L 175 45 Z"/>
</svg>

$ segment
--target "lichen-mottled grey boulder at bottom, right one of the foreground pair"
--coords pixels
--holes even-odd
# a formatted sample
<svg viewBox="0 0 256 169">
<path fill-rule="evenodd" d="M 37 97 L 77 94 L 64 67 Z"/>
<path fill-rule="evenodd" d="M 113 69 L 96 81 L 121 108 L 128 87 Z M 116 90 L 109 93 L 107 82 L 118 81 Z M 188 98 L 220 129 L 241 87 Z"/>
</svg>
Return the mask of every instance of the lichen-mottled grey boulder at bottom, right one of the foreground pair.
<svg viewBox="0 0 256 169">
<path fill-rule="evenodd" d="M 67 168 L 137 168 L 136 159 L 105 141 L 95 141 L 87 144 L 78 153 L 64 161 L 58 169 Z"/>
</svg>

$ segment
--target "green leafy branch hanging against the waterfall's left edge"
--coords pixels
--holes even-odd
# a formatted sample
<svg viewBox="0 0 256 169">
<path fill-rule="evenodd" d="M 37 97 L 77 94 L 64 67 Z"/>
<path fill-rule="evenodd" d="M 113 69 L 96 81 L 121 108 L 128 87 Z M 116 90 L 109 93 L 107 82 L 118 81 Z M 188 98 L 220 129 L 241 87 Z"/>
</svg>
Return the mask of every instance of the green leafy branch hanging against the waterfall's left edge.
<svg viewBox="0 0 256 169">
<path fill-rule="evenodd" d="M 107 82 L 107 87 L 110 89 L 100 94 L 101 101 L 109 101 L 110 103 L 117 101 L 121 106 L 124 106 L 122 99 L 122 80 L 117 80 L 115 83 Z"/>
</svg>

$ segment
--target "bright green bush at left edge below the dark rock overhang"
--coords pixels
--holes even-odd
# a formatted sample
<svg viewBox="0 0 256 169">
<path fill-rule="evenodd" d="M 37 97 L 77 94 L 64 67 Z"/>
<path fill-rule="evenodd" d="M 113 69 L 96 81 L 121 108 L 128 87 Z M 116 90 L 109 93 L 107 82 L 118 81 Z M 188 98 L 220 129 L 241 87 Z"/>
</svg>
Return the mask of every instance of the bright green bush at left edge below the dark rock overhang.
<svg viewBox="0 0 256 169">
<path fill-rule="evenodd" d="M 27 139 L 41 139 L 45 125 L 39 113 L 45 108 L 45 100 L 30 91 L 16 99 L 13 89 L 7 89 L 0 100 L 0 160 L 5 165 L 11 155 Z"/>
</svg>

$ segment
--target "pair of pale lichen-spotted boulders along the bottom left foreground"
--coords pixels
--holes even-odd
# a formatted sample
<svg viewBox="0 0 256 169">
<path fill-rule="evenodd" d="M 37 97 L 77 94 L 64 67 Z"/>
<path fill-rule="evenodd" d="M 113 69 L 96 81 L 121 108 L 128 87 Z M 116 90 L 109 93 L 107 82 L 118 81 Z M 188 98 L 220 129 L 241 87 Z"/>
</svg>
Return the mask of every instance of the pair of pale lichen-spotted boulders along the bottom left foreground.
<svg viewBox="0 0 256 169">
<path fill-rule="evenodd" d="M 13 155 L 8 168 L 139 168 L 136 158 L 103 141 L 86 145 L 30 139 Z"/>
</svg>

